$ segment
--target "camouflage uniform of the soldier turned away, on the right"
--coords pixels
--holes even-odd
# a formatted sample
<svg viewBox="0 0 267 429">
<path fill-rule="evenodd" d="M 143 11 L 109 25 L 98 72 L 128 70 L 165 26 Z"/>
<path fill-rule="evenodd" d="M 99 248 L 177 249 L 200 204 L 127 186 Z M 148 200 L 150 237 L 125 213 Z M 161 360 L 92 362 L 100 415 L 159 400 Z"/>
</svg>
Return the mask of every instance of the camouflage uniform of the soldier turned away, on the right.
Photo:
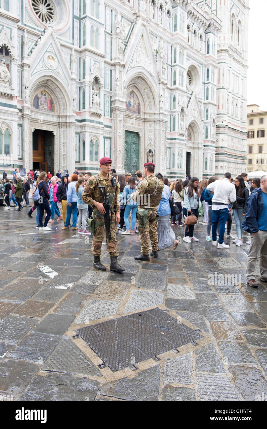
<svg viewBox="0 0 267 429">
<path fill-rule="evenodd" d="M 137 215 L 138 215 L 138 211 L 141 210 L 142 208 L 148 209 L 147 223 L 145 227 L 141 228 L 140 224 L 138 224 L 139 237 L 141 241 L 141 253 L 143 255 L 149 254 L 149 237 L 150 237 L 153 251 L 157 251 L 158 245 L 159 245 L 158 221 L 156 219 L 156 213 L 157 213 L 157 206 L 159 205 L 162 191 L 163 191 L 163 182 L 159 180 L 156 194 L 151 195 L 156 189 L 156 183 L 157 183 L 157 179 L 154 174 L 144 178 L 144 180 L 142 180 L 141 183 L 138 184 L 138 187 L 135 191 L 135 196 L 134 196 L 134 199 L 136 199 L 137 201 L 138 201 L 138 196 L 143 196 L 143 199 L 144 199 L 142 201 L 140 198 L 140 201 L 138 201 Z M 150 198 L 150 204 L 141 205 L 142 203 L 145 204 L 146 201 L 149 202 L 148 198 Z"/>
</svg>

